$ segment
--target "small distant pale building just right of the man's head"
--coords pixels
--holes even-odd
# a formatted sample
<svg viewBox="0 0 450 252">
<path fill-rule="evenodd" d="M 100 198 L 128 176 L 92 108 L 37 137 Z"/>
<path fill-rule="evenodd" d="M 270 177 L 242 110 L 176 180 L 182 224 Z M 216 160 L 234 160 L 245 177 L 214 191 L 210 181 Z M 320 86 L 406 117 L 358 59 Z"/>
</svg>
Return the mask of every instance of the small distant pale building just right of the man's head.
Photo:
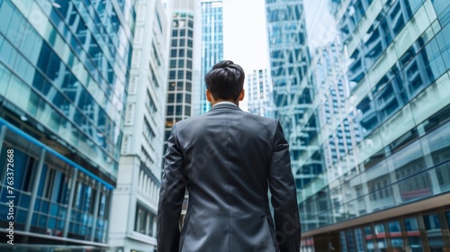
<svg viewBox="0 0 450 252">
<path fill-rule="evenodd" d="M 246 76 L 248 97 L 248 112 L 261 116 L 274 117 L 272 114 L 272 82 L 269 71 L 264 69 L 253 70 Z"/>
</svg>

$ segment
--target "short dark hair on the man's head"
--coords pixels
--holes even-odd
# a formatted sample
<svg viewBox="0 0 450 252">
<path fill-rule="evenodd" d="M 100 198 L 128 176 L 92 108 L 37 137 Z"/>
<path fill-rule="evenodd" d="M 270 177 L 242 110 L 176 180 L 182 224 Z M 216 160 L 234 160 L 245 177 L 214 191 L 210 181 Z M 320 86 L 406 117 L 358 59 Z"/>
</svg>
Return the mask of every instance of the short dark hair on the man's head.
<svg viewBox="0 0 450 252">
<path fill-rule="evenodd" d="M 231 60 L 220 61 L 204 76 L 206 88 L 215 100 L 238 100 L 244 88 L 244 79 L 244 69 Z"/>
</svg>

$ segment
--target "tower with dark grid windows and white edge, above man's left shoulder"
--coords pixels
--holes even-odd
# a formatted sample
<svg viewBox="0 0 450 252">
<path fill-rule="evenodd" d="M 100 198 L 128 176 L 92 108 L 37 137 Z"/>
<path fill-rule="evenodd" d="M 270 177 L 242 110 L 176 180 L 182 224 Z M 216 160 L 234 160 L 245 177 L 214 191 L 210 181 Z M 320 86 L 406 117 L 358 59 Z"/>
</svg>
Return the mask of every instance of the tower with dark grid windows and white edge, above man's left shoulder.
<svg viewBox="0 0 450 252">
<path fill-rule="evenodd" d="M 193 115 L 194 99 L 200 75 L 201 6 L 199 0 L 173 3 L 172 35 L 166 103 L 166 141 L 176 121 Z"/>
</svg>

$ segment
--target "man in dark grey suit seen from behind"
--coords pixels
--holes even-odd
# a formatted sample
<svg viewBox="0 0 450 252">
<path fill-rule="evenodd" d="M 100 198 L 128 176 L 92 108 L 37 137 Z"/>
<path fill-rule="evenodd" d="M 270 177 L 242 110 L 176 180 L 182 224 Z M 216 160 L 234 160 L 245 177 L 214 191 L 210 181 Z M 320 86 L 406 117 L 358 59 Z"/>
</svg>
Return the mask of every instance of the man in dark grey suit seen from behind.
<svg viewBox="0 0 450 252">
<path fill-rule="evenodd" d="M 238 108 L 244 77 L 232 61 L 216 64 L 204 77 L 211 111 L 172 129 L 157 211 L 158 252 L 300 250 L 289 146 L 278 121 Z M 189 202 L 180 232 L 184 188 Z"/>
</svg>

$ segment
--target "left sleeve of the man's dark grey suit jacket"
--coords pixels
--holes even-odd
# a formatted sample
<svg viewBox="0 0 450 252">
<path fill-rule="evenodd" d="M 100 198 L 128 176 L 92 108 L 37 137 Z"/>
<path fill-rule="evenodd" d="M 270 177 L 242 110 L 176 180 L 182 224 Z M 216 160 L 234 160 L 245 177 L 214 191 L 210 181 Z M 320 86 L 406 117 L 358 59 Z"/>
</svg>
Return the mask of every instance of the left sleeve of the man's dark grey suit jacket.
<svg viewBox="0 0 450 252">
<path fill-rule="evenodd" d="M 167 140 L 164 172 L 157 206 L 157 251 L 178 252 L 180 229 L 178 221 L 182 210 L 185 184 L 184 157 L 179 148 L 176 128 Z"/>
</svg>

